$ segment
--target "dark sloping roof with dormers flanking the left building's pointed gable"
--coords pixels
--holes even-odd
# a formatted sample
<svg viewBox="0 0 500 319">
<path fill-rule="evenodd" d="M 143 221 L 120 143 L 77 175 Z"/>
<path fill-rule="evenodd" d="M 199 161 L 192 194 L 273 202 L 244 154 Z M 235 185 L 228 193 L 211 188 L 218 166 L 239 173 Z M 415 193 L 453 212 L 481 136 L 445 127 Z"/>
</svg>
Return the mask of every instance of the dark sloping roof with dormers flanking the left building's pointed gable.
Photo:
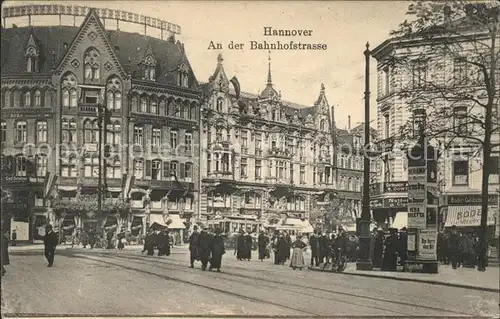
<svg viewBox="0 0 500 319">
<path fill-rule="evenodd" d="M 51 73 L 63 59 L 67 49 L 77 35 L 80 27 L 72 26 L 35 26 L 9 28 L 2 31 L 2 75 L 22 74 L 26 72 L 25 49 L 30 36 L 30 28 L 38 41 L 44 61 L 40 61 L 40 73 Z M 161 40 L 138 33 L 106 30 L 113 50 L 125 70 L 132 78 L 141 78 L 139 64 L 144 59 L 148 44 L 157 59 L 160 72 L 157 82 L 177 85 L 177 68 L 187 59 L 184 46 L 173 38 Z M 8 50 L 4 50 L 8 44 Z M 66 44 L 66 46 L 65 46 Z M 4 54 L 6 56 L 4 56 Z M 187 62 L 189 64 L 189 62 Z M 193 70 L 189 71 L 191 89 L 198 87 Z"/>
</svg>

